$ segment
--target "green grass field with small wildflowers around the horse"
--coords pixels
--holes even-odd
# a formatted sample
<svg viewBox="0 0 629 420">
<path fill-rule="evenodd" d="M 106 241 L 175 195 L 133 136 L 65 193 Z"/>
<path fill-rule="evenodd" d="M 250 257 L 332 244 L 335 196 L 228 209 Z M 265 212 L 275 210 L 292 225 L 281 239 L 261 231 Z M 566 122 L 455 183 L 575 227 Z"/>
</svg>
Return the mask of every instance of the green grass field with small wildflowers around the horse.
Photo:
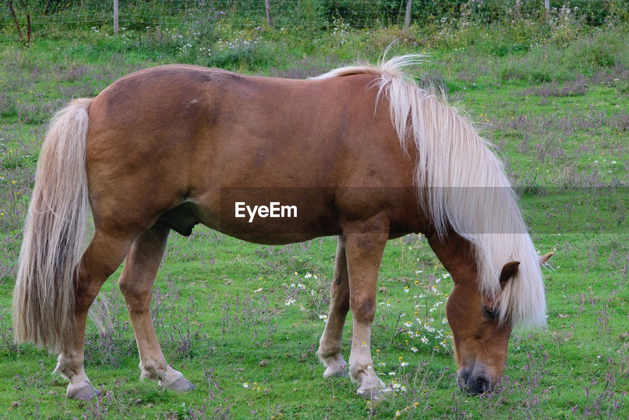
<svg viewBox="0 0 629 420">
<path fill-rule="evenodd" d="M 108 28 L 42 31 L 30 47 L 8 30 L 1 38 L 0 416 L 629 416 L 626 25 L 566 26 L 535 39 L 526 24 L 446 27 L 438 36 L 341 27 L 306 39 L 289 28 L 213 30 L 206 47 L 203 37 L 155 27 L 118 37 Z M 186 394 L 140 382 L 120 270 L 103 290 L 113 328 L 99 332 L 91 323 L 87 331 L 86 372 L 99 399 L 65 399 L 66 383 L 50 374 L 55 357 L 13 344 L 9 305 L 21 227 L 45 124 L 64 103 L 171 62 L 314 76 L 376 60 L 395 37 L 403 40 L 396 54 L 431 55 L 416 76 L 458 101 L 496 144 L 533 241 L 542 253 L 555 251 L 554 268 L 544 271 L 548 327 L 512 336 L 498 389 L 468 397 L 456 387 L 443 305 L 452 281 L 421 236 L 389 242 L 379 273 L 372 354 L 394 392 L 378 404 L 357 397 L 347 378 L 324 379 L 316 360 L 335 238 L 259 246 L 200 227 L 187 238 L 171 235 L 152 312 L 167 361 L 196 385 Z M 409 337 L 407 321 L 417 337 Z M 346 358 L 350 338 L 351 317 Z"/>
</svg>

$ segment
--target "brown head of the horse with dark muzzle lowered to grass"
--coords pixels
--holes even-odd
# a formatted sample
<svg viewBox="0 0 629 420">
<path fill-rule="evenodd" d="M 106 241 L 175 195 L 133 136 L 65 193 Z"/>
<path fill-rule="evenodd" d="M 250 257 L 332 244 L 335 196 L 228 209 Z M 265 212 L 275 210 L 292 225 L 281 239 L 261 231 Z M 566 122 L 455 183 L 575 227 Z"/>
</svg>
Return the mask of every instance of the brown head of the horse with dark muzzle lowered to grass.
<svg viewBox="0 0 629 420">
<path fill-rule="evenodd" d="M 549 253 L 541 257 L 540 263 L 546 263 L 551 256 Z M 502 290 L 518 266 L 518 261 L 504 264 L 500 274 Z M 500 322 L 500 308 L 479 292 L 476 282 L 453 278 L 455 286 L 448 298 L 447 315 L 454 334 L 458 382 L 468 394 L 477 395 L 491 389 L 503 373 L 511 324 L 508 319 Z"/>
</svg>

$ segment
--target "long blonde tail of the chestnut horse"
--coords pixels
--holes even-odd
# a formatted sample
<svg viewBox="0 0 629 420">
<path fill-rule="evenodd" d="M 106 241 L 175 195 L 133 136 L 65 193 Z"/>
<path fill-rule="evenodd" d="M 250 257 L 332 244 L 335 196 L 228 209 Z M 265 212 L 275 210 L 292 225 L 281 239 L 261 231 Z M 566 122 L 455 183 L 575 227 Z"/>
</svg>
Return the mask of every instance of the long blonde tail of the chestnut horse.
<svg viewBox="0 0 629 420">
<path fill-rule="evenodd" d="M 75 99 L 53 117 L 43 142 L 31 196 L 18 278 L 13 291 L 16 343 L 58 353 L 74 331 L 74 276 L 89 213 L 87 110 Z"/>
</svg>

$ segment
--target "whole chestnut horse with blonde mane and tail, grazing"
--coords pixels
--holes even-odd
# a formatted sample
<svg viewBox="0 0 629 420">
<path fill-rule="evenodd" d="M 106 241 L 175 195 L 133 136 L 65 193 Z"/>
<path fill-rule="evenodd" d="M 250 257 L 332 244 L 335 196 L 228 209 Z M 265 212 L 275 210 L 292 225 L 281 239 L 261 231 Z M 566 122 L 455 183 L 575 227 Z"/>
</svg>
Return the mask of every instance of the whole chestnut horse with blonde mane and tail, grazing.
<svg viewBox="0 0 629 420">
<path fill-rule="evenodd" d="M 333 235 L 318 356 L 324 377 L 349 373 L 359 394 L 374 397 L 384 385 L 370 354 L 382 253 L 388 239 L 423 232 L 454 280 L 447 317 L 459 383 L 470 394 L 489 389 L 512 327 L 545 323 L 540 258 L 487 141 L 404 73 L 420 60 L 308 80 L 162 65 L 72 101 L 53 118 L 38 162 L 13 293 L 16 341 L 59 353 L 68 397 L 95 395 L 83 367 L 87 312 L 125 260 L 120 289 L 140 378 L 192 389 L 167 364 L 149 308 L 170 230 L 189 235 L 204 224 L 260 244 Z M 269 202 L 298 217 L 237 217 L 238 203 Z"/>
</svg>

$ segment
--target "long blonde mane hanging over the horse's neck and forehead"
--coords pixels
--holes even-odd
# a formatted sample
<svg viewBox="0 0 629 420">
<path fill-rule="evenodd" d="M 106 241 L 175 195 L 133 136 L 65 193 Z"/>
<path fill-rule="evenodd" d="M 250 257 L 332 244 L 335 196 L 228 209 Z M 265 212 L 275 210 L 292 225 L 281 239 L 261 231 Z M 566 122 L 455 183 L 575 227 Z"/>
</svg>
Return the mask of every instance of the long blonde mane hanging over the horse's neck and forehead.
<svg viewBox="0 0 629 420">
<path fill-rule="evenodd" d="M 386 52 L 385 52 L 386 54 Z M 522 219 L 518 200 L 503 164 L 472 123 L 421 89 L 403 69 L 425 56 L 402 55 L 377 65 L 332 70 L 318 78 L 374 74 L 379 99 L 389 101 L 391 122 L 404 151 L 415 147 L 415 185 L 420 205 L 431 216 L 437 234 L 448 227 L 472 244 L 479 290 L 497 300 L 501 321 L 513 326 L 543 326 L 546 304 L 539 257 Z M 501 292 L 505 263 L 520 261 L 518 272 Z"/>
</svg>

